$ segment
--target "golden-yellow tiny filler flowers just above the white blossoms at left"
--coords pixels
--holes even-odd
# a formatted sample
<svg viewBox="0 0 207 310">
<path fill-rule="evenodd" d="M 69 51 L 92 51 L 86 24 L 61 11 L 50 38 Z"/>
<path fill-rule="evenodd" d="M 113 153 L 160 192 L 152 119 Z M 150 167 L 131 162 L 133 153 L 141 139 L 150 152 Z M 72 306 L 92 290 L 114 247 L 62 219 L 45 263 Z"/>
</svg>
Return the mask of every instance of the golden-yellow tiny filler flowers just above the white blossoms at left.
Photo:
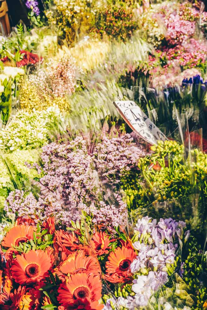
<svg viewBox="0 0 207 310">
<path fill-rule="evenodd" d="M 50 94 L 39 93 L 37 87 L 28 80 L 22 80 L 20 83 L 20 108 L 26 111 L 42 111 L 57 105 L 61 111 L 67 111 L 70 104 L 66 97 L 55 97 Z"/>
</svg>

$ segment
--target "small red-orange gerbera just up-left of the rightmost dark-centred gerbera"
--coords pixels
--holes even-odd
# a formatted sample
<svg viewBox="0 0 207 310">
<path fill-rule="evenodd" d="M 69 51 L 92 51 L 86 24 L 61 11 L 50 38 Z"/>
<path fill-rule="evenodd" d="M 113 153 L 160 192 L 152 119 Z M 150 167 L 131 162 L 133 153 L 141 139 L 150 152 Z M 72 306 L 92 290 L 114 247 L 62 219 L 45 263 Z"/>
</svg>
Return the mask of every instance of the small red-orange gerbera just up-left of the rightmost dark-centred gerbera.
<svg viewBox="0 0 207 310">
<path fill-rule="evenodd" d="M 97 255 L 108 254 L 110 239 L 105 232 L 96 232 L 92 237 L 92 245 Z"/>
</svg>

